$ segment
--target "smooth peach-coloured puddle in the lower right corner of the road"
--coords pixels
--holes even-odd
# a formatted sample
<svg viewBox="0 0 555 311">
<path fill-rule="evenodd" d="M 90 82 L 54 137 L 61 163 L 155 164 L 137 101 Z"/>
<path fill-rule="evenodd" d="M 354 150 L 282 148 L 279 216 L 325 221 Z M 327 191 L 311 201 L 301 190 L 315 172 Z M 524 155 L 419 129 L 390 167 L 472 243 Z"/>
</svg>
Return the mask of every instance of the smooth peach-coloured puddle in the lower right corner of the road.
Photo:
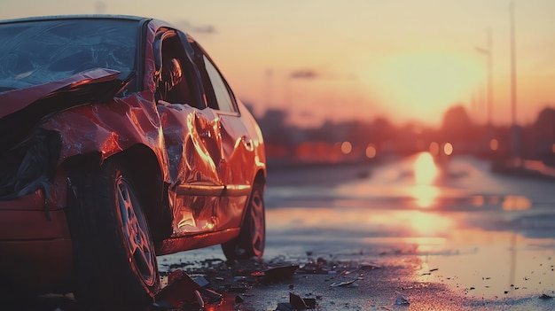
<svg viewBox="0 0 555 311">
<path fill-rule="evenodd" d="M 458 241 L 449 240 L 456 252 L 447 254 L 437 245 L 419 245 L 419 281 L 442 282 L 486 299 L 552 295 L 554 240 L 479 230 L 461 231 L 457 237 Z"/>
</svg>

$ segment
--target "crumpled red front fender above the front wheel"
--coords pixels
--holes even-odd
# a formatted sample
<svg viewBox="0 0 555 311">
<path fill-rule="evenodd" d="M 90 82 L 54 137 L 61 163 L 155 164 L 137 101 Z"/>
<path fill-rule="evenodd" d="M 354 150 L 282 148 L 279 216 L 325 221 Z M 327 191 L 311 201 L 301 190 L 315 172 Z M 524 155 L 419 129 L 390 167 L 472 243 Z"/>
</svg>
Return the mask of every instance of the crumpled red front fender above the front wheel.
<svg viewBox="0 0 555 311">
<path fill-rule="evenodd" d="M 59 164 L 88 152 L 100 152 L 104 160 L 135 144 L 145 144 L 159 159 L 164 180 L 169 178 L 160 117 L 151 92 L 74 107 L 52 116 L 42 127 L 61 135 L 64 148 Z"/>
</svg>

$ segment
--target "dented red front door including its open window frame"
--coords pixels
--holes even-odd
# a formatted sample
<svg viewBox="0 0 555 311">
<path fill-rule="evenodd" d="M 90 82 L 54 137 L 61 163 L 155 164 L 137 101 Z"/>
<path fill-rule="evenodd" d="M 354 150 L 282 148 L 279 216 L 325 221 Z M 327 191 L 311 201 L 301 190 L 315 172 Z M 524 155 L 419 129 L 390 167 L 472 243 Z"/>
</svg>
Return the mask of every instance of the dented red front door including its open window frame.
<svg viewBox="0 0 555 311">
<path fill-rule="evenodd" d="M 168 30 L 157 37 L 154 50 L 159 53 L 159 89 L 163 88 L 158 110 L 168 152 L 172 237 L 214 231 L 216 206 L 225 190 L 219 121 L 204 102 L 186 36 Z"/>
</svg>

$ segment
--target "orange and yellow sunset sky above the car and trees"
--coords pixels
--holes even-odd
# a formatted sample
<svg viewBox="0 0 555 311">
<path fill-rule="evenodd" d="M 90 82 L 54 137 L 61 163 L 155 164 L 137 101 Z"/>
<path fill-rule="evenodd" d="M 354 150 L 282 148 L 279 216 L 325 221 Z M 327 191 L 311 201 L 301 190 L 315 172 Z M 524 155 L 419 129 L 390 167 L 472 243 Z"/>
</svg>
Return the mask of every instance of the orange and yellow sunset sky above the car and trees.
<svg viewBox="0 0 555 311">
<path fill-rule="evenodd" d="M 450 105 L 486 121 L 487 29 L 493 113 L 511 121 L 510 0 L 19 0 L 0 19 L 108 13 L 165 19 L 195 37 L 260 115 L 296 124 L 385 116 L 437 126 Z M 517 121 L 555 107 L 555 1 L 515 0 Z M 157 5 L 163 4 L 163 5 Z"/>
</svg>

